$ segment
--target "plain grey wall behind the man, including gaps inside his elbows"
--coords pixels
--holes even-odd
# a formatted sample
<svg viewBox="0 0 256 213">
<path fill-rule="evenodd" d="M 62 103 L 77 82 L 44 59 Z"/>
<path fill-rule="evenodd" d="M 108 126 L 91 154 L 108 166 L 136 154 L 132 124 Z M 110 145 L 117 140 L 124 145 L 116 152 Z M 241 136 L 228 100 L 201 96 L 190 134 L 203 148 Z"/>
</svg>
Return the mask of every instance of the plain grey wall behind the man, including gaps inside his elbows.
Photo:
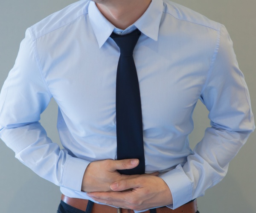
<svg viewBox="0 0 256 213">
<path fill-rule="evenodd" d="M 0 3 L 0 87 L 17 56 L 27 27 L 76 0 L 1 0 Z M 240 69 L 250 90 L 256 115 L 256 0 L 175 0 L 212 20 L 223 23 L 234 42 Z M 41 123 L 53 141 L 59 143 L 56 131 L 57 106 L 52 101 L 41 117 Z M 191 146 L 201 140 L 209 126 L 207 110 L 198 103 L 195 131 Z M 221 183 L 198 199 L 201 213 L 256 213 L 256 133 L 230 163 Z M 38 177 L 14 157 L 14 152 L 0 141 L 0 213 L 55 213 L 60 201 L 57 186 Z"/>
</svg>

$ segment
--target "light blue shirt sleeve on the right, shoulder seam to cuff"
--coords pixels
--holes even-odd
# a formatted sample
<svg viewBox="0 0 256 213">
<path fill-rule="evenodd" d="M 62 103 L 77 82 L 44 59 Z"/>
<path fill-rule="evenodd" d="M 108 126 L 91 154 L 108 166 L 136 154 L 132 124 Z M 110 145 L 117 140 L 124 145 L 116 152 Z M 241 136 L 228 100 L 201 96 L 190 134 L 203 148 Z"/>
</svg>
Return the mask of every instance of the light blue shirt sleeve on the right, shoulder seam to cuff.
<svg viewBox="0 0 256 213">
<path fill-rule="evenodd" d="M 220 182 L 229 162 L 255 129 L 248 88 L 224 26 L 200 99 L 209 110 L 211 127 L 185 164 L 161 176 L 172 192 L 173 205 L 169 207 L 173 209 L 203 196 Z"/>
</svg>

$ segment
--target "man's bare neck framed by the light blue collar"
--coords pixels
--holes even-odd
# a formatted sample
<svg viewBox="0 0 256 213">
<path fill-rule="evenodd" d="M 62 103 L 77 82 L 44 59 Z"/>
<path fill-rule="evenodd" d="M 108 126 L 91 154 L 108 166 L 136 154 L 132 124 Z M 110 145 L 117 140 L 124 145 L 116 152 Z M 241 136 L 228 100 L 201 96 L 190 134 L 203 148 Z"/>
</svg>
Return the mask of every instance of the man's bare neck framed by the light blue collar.
<svg viewBox="0 0 256 213">
<path fill-rule="evenodd" d="M 117 28 L 126 29 L 148 9 L 151 0 L 94 0 L 99 11 Z"/>
</svg>

